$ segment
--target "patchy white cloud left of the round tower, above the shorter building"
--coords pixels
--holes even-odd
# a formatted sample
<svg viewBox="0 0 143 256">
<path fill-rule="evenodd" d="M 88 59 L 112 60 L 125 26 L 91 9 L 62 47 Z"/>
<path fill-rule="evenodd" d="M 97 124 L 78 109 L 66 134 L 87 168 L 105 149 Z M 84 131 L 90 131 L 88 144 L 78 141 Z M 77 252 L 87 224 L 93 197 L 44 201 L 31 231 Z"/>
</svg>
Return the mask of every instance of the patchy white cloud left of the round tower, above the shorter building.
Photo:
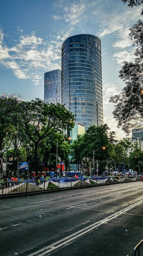
<svg viewBox="0 0 143 256">
<path fill-rule="evenodd" d="M 61 51 L 57 41 L 43 41 L 34 32 L 21 36 L 13 47 L 4 45 L 4 34 L 0 31 L 0 64 L 13 70 L 19 79 L 32 79 L 38 84 L 43 70 L 60 68 Z M 38 74 L 38 75 L 37 75 Z"/>
</svg>

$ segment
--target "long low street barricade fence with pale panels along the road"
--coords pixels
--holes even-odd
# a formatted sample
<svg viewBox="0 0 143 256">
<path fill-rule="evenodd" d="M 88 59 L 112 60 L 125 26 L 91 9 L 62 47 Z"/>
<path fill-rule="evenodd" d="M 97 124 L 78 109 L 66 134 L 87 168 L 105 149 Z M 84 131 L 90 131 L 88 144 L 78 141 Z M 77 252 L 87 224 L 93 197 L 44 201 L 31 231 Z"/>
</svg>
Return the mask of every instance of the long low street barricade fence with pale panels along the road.
<svg viewBox="0 0 143 256">
<path fill-rule="evenodd" d="M 79 189 L 109 185 L 115 183 L 141 181 L 141 176 L 113 176 L 113 177 L 78 177 L 78 178 L 50 178 L 40 180 L 4 181 L 0 183 L 0 197 L 14 195 L 30 195 L 34 193 L 46 193 L 67 189 Z"/>
</svg>

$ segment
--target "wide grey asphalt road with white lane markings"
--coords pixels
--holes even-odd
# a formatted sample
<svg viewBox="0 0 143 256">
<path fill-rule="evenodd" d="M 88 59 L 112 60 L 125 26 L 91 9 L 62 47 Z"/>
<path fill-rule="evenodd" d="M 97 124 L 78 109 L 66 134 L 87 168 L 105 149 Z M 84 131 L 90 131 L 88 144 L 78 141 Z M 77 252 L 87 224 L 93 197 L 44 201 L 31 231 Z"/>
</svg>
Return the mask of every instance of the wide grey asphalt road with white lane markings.
<svg viewBox="0 0 143 256">
<path fill-rule="evenodd" d="M 0 255 L 131 256 L 143 182 L 0 199 Z"/>
</svg>

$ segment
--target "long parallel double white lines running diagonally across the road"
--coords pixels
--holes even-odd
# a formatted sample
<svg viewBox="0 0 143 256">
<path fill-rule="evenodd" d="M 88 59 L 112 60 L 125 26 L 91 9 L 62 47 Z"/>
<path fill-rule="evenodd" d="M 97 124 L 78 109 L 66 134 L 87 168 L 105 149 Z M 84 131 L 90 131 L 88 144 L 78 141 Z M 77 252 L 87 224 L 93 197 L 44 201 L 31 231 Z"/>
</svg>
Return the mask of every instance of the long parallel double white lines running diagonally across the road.
<svg viewBox="0 0 143 256">
<path fill-rule="evenodd" d="M 52 245 L 48 245 L 40 250 L 38 250 L 37 252 L 34 252 L 32 254 L 29 254 L 28 256 L 35 256 L 35 255 L 39 255 L 39 256 L 43 256 L 43 255 L 49 255 L 50 252 L 52 252 L 53 250 L 56 250 L 60 247 L 64 247 L 65 245 L 67 245 L 68 243 L 72 242 L 73 240 L 76 240 L 78 237 L 80 236 L 83 236 L 84 234 L 86 233 L 89 233 L 90 231 L 92 231 L 93 229 L 99 227 L 100 225 L 110 221 L 110 220 L 113 220 L 114 218 L 117 218 L 118 216 L 120 216 L 121 214 L 123 213 L 126 213 L 126 211 L 129 211 L 130 209 L 136 207 L 137 205 L 139 204 L 142 204 L 143 203 L 143 200 L 137 202 L 137 203 L 134 203 L 133 205 L 130 205 L 128 207 L 126 207 L 125 209 L 123 210 L 120 210 L 119 212 L 117 213 L 113 213 L 111 216 L 108 216 L 106 218 L 104 218 L 103 220 L 100 220 L 98 222 L 95 222 L 91 225 L 89 225 L 88 227 L 85 227 L 84 229 L 81 229 L 79 231 L 77 231 L 76 233 L 70 235 L 70 236 L 67 236 L 65 238 L 62 238 L 61 240 L 53 243 Z M 127 204 L 128 205 L 128 204 Z M 65 241 L 65 242 L 64 242 Z M 55 246 L 56 245 L 56 246 Z M 46 251 L 45 251 L 46 250 Z M 43 252 L 45 251 L 45 252 Z"/>
</svg>

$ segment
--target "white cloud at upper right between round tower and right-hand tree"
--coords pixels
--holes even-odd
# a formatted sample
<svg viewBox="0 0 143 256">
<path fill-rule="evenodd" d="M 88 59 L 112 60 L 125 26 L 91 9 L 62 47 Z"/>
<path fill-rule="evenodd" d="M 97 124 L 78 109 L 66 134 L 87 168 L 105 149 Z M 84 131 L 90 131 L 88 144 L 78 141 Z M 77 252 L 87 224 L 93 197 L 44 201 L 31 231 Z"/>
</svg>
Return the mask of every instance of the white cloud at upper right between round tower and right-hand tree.
<svg viewBox="0 0 143 256">
<path fill-rule="evenodd" d="M 140 13 L 141 7 L 132 10 L 129 9 L 126 12 L 117 13 L 117 15 L 114 13 L 110 18 L 106 17 L 106 20 L 108 21 L 106 24 L 102 23 L 102 28 L 98 32 L 98 36 L 100 38 L 109 34 L 114 34 L 114 43 L 112 46 L 115 49 L 115 53 L 113 54 L 113 59 L 115 59 L 120 65 L 125 60 L 134 60 L 133 50 L 131 47 L 132 41 L 128 34 L 130 33 L 129 28 L 131 27 L 130 24 L 132 24 L 132 21 L 141 18 Z"/>
</svg>

